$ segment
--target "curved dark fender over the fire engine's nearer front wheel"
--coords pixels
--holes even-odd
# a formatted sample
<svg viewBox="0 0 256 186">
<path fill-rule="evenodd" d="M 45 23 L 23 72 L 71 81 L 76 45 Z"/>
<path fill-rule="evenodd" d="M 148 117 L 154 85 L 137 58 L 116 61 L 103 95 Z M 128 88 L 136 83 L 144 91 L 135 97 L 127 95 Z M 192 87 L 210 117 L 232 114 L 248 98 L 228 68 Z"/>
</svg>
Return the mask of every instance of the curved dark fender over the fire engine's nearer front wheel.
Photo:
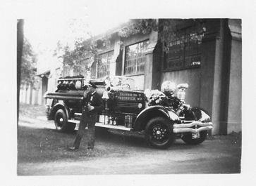
<svg viewBox="0 0 256 186">
<path fill-rule="evenodd" d="M 140 114 L 138 114 L 133 124 L 134 131 L 142 131 L 145 128 L 147 122 L 154 117 L 165 117 L 170 121 L 174 121 L 176 123 L 180 122 L 178 115 L 168 107 L 154 105 L 147 107 L 146 109 L 142 110 Z"/>
</svg>

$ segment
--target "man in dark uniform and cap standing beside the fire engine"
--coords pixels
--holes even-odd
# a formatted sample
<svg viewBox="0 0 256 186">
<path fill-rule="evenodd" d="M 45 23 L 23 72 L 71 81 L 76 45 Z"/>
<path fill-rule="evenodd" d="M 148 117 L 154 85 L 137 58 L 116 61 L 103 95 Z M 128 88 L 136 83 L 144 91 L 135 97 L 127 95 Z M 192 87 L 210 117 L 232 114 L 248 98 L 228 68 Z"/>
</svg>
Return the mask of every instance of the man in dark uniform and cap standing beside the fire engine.
<svg viewBox="0 0 256 186">
<path fill-rule="evenodd" d="M 83 111 L 80 119 L 78 133 L 75 137 L 73 147 L 69 147 L 69 150 L 78 151 L 80 142 L 85 133 L 86 124 L 88 124 L 89 135 L 87 149 L 92 150 L 95 147 L 95 123 L 97 121 L 99 112 L 101 112 L 103 109 L 103 101 L 102 98 L 100 98 L 100 96 L 96 93 L 96 88 L 97 86 L 95 86 L 93 83 L 90 83 L 87 86 L 87 91 L 85 91 L 83 100 L 81 102 Z"/>
</svg>

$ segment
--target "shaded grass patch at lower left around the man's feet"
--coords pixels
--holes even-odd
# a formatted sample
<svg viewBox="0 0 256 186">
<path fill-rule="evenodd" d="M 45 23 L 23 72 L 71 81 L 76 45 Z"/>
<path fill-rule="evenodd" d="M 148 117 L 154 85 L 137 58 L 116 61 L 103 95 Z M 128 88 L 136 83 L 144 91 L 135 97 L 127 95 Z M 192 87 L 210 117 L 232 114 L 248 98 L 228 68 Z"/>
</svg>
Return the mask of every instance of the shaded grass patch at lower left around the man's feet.
<svg viewBox="0 0 256 186">
<path fill-rule="evenodd" d="M 86 159 L 99 157 L 106 152 L 95 149 L 89 153 L 85 144 L 81 144 L 78 152 L 69 152 L 68 147 L 73 144 L 75 133 L 59 133 L 47 128 L 18 128 L 18 163 L 20 162 L 45 162 L 61 159 Z M 83 141 L 87 140 L 87 135 Z M 85 143 L 83 142 L 82 143 Z"/>
</svg>

